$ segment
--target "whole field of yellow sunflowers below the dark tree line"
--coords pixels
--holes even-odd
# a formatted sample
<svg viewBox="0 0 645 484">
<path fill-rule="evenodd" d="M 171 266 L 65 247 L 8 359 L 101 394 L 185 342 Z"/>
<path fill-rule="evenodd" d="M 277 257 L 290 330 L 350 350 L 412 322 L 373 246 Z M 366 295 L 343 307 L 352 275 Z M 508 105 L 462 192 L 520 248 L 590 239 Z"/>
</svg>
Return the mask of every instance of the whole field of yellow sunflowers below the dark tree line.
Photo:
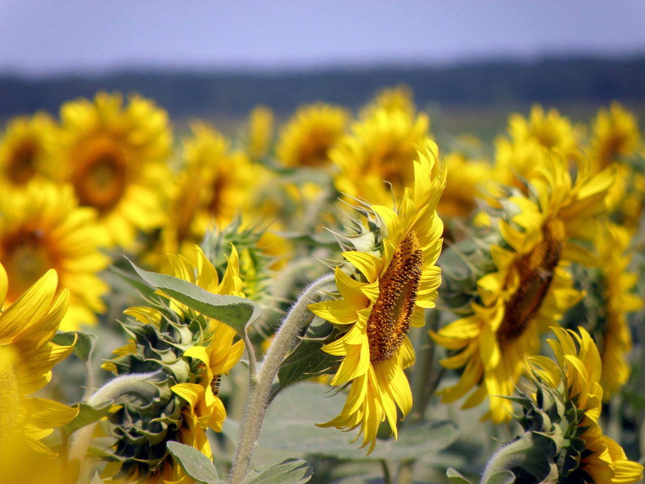
<svg viewBox="0 0 645 484">
<path fill-rule="evenodd" d="M 117 92 L 6 123 L 0 481 L 642 479 L 633 113 L 438 137 L 398 86 L 234 131 Z"/>
</svg>

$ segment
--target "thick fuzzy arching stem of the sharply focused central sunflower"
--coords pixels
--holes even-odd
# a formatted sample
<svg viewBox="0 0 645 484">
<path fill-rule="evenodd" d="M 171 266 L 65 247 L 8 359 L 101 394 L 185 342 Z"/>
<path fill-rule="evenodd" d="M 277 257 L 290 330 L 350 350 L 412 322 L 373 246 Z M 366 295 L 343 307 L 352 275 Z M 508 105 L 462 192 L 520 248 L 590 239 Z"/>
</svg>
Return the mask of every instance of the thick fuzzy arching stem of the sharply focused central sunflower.
<svg viewBox="0 0 645 484">
<path fill-rule="evenodd" d="M 246 477 L 271 398 L 273 379 L 284 361 L 284 357 L 297 341 L 299 332 L 310 321 L 311 312 L 308 305 L 321 299 L 325 292 L 331 289 L 328 285 L 333 283 L 333 279 L 333 274 L 323 276 L 304 290 L 283 319 L 283 323 L 275 334 L 273 343 L 259 367 L 257 377 L 251 380 L 250 394 L 240 425 L 237 449 L 228 480 L 230 484 L 239 484 Z"/>
</svg>

